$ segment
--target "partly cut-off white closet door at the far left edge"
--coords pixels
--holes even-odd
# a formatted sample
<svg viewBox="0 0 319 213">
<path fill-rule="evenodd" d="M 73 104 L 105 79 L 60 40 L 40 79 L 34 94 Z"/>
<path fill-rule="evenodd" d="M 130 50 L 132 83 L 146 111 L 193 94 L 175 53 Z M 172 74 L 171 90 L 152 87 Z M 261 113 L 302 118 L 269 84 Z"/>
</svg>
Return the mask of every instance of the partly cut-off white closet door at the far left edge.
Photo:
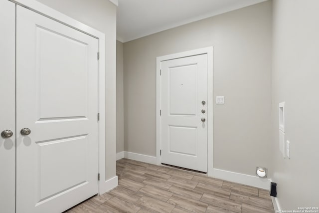
<svg viewBox="0 0 319 213">
<path fill-rule="evenodd" d="M 0 0 L 0 212 L 15 207 L 15 4 Z"/>
</svg>

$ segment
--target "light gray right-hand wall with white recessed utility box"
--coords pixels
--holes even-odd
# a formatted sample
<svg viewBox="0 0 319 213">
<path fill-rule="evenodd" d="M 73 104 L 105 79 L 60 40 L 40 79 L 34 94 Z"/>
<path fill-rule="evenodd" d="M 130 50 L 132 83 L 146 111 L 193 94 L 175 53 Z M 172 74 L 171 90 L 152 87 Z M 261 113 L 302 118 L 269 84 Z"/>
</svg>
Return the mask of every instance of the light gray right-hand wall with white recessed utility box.
<svg viewBox="0 0 319 213">
<path fill-rule="evenodd" d="M 272 120 L 274 169 L 282 210 L 319 206 L 319 1 L 274 0 Z M 290 157 L 279 151 L 278 104 L 285 101 Z"/>
</svg>

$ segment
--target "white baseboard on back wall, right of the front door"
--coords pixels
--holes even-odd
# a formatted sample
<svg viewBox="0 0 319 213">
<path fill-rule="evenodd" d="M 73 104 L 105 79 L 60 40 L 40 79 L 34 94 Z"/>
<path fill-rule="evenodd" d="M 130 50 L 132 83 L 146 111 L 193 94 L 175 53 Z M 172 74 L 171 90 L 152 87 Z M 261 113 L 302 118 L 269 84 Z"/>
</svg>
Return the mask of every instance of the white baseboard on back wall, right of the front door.
<svg viewBox="0 0 319 213">
<path fill-rule="evenodd" d="M 229 171 L 220 170 L 220 169 L 213 169 L 212 177 L 222 179 L 225 181 L 235 182 L 238 184 L 270 190 L 271 180 L 267 178 L 258 178 L 257 176 L 229 172 Z"/>
</svg>

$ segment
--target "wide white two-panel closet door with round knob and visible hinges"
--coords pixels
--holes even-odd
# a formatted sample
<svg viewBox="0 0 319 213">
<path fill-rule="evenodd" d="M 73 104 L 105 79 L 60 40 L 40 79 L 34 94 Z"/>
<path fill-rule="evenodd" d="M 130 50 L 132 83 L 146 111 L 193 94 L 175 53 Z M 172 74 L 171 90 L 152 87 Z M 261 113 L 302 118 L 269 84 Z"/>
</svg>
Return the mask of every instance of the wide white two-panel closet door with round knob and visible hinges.
<svg viewBox="0 0 319 213">
<path fill-rule="evenodd" d="M 16 210 L 60 213 L 98 193 L 98 40 L 16 12 Z"/>
</svg>

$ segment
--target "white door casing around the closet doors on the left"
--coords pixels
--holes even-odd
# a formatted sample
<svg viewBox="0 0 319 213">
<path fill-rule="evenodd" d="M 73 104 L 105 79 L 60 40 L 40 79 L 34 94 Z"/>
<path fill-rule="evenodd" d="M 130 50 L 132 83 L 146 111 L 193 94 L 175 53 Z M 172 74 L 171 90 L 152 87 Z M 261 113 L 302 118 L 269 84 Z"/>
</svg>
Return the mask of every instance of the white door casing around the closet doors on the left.
<svg viewBox="0 0 319 213">
<path fill-rule="evenodd" d="M 36 13 L 39 13 L 45 17 L 53 19 L 57 22 L 65 24 L 73 29 L 88 34 L 98 39 L 98 173 L 100 175 L 100 181 L 98 181 L 99 194 L 103 194 L 110 189 L 114 188 L 114 183 L 109 183 L 106 180 L 105 174 L 105 34 L 90 26 L 87 26 L 67 15 L 62 14 L 36 0 L 9 0 L 20 6 L 26 7 Z M 98 56 L 97 56 L 98 57 Z M 117 179 L 116 179 L 117 182 Z M 111 186 L 112 185 L 112 186 Z M 117 186 L 117 183 L 116 183 Z"/>
</svg>

